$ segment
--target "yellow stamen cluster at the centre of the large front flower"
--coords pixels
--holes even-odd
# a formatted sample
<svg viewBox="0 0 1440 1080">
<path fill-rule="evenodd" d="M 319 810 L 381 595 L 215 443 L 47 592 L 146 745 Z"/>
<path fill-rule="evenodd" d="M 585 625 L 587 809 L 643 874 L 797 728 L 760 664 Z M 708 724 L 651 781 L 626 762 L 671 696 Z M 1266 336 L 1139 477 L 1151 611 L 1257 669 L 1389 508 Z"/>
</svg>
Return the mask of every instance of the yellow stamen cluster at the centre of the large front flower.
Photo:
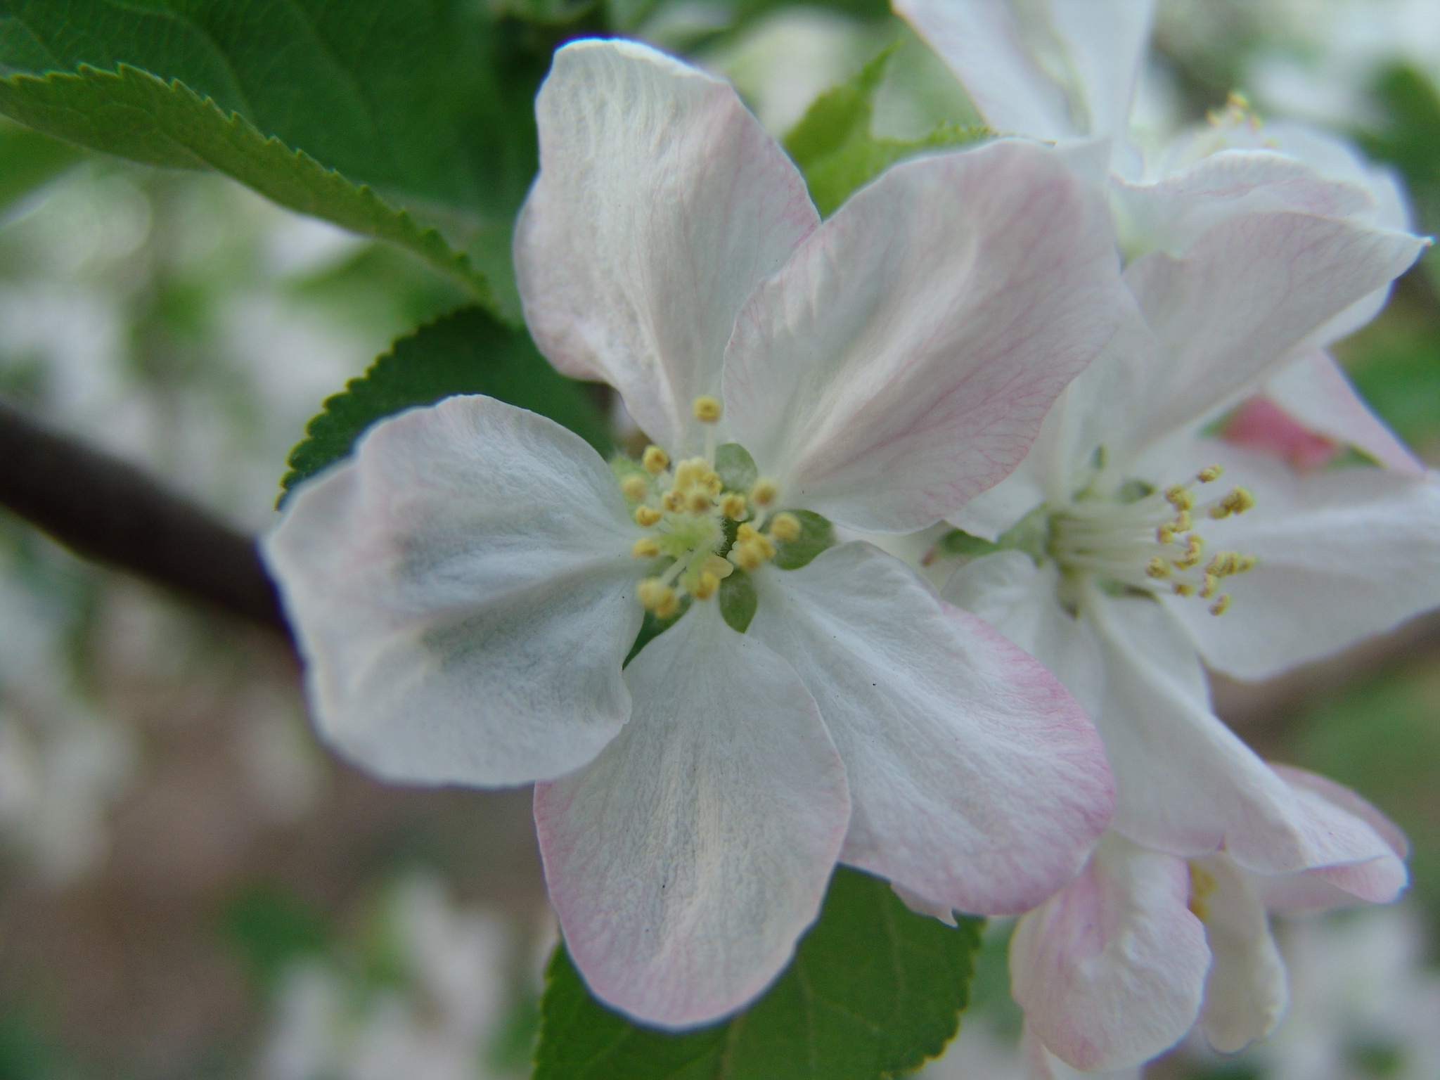
<svg viewBox="0 0 1440 1080">
<path fill-rule="evenodd" d="M 779 490 L 755 477 L 753 464 L 747 475 L 717 471 L 713 425 L 720 413 L 714 397 L 696 399 L 696 419 L 710 425 L 703 458 L 672 464 L 664 449 L 647 446 L 638 462 L 616 462 L 625 501 L 648 530 L 631 554 L 655 560 L 655 573 L 639 583 L 636 595 L 661 619 L 680 611 L 685 596 L 710 599 L 736 567 L 759 569 L 775 557 L 776 541 L 801 534 L 799 518 L 769 510 Z"/>
</svg>

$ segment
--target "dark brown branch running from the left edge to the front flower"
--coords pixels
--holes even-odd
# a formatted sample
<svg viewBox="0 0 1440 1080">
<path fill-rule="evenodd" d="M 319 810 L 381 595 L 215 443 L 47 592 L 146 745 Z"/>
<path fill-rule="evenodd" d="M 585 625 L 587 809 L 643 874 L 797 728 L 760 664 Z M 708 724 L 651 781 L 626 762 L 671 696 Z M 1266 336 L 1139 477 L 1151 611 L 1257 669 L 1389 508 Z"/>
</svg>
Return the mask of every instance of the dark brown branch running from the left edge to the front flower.
<svg viewBox="0 0 1440 1080">
<path fill-rule="evenodd" d="M 76 554 L 289 636 L 251 537 L 3 402 L 0 505 Z"/>
</svg>

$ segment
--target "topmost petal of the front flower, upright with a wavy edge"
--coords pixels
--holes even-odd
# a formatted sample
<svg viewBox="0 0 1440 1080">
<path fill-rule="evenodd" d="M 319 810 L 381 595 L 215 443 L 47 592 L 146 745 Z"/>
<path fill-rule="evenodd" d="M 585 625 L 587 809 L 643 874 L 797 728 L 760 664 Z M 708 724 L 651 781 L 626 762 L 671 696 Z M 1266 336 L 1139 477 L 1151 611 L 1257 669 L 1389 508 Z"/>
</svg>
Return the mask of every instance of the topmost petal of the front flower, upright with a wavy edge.
<svg viewBox="0 0 1440 1080">
<path fill-rule="evenodd" d="M 516 226 L 530 333 L 688 452 L 736 312 L 819 222 L 805 180 L 727 82 L 635 42 L 560 49 L 536 118 Z"/>
</svg>

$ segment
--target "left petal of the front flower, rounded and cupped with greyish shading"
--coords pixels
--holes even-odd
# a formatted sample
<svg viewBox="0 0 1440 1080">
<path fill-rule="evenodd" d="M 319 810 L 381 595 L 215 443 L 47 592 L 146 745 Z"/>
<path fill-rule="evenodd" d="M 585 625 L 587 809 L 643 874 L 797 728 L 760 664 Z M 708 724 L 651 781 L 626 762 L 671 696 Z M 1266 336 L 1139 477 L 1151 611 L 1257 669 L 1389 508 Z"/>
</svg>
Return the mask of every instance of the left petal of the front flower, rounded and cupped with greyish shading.
<svg viewBox="0 0 1440 1080">
<path fill-rule="evenodd" d="M 543 416 L 472 396 L 377 425 L 265 541 L 321 734 L 403 782 L 585 765 L 631 710 L 638 531 L 600 455 Z"/>
</svg>

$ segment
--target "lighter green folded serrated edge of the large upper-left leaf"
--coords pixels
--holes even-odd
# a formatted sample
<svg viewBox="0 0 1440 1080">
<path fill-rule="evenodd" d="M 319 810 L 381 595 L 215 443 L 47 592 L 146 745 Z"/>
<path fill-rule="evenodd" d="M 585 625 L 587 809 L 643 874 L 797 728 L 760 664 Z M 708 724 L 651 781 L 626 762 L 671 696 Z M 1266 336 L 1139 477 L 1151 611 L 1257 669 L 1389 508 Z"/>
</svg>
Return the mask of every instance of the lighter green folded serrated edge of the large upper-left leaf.
<svg viewBox="0 0 1440 1080">
<path fill-rule="evenodd" d="M 226 114 L 179 79 L 121 63 L 75 72 L 0 78 L 0 112 L 58 138 L 168 168 L 213 168 L 298 213 L 396 243 L 465 285 L 497 310 L 484 274 L 469 258 L 396 209 L 366 184 L 261 132 L 239 112 Z"/>
</svg>

